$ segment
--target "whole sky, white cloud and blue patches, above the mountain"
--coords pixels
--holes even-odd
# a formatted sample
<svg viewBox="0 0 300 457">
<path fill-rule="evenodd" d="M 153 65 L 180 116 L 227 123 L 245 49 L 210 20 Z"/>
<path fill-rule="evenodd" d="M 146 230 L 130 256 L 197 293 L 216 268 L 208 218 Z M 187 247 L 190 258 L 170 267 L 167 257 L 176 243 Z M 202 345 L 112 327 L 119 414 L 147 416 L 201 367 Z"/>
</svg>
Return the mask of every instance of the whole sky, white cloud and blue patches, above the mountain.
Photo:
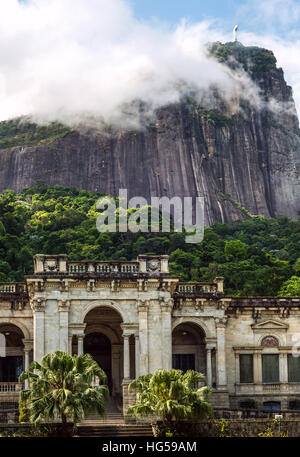
<svg viewBox="0 0 300 457">
<path fill-rule="evenodd" d="M 231 97 L 208 41 L 272 49 L 300 110 L 300 0 L 0 0 L 0 119 L 112 120 L 120 104 L 177 101 L 178 82 Z M 77 116 L 77 117 L 76 117 Z"/>
</svg>

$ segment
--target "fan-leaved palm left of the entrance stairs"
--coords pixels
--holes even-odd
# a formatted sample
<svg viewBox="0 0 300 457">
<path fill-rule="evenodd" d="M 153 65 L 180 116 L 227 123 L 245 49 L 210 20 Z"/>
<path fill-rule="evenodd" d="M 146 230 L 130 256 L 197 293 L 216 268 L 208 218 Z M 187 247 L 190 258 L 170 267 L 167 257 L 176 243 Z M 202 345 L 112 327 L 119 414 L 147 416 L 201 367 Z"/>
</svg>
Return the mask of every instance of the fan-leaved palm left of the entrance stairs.
<svg viewBox="0 0 300 457">
<path fill-rule="evenodd" d="M 94 385 L 99 379 L 101 385 Z M 21 392 L 21 401 L 28 405 L 30 420 L 52 422 L 61 418 L 62 434 L 67 433 L 68 421 L 77 423 L 85 413 L 97 410 L 105 414 L 108 398 L 106 375 L 89 354 L 71 356 L 56 351 L 32 362 L 20 382 L 28 380 L 28 389 Z"/>
</svg>

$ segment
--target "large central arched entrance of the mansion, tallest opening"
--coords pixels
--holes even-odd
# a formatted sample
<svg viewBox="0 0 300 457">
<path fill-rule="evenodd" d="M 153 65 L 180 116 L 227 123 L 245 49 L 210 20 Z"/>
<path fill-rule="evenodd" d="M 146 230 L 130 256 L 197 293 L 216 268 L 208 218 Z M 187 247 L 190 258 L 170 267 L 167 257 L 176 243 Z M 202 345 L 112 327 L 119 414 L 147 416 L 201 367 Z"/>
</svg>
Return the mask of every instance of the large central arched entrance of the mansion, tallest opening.
<svg viewBox="0 0 300 457">
<path fill-rule="evenodd" d="M 110 307 L 99 306 L 85 316 L 84 352 L 105 371 L 112 396 L 122 396 L 123 337 L 122 318 Z M 121 398 L 120 398 L 121 399 Z"/>
</svg>

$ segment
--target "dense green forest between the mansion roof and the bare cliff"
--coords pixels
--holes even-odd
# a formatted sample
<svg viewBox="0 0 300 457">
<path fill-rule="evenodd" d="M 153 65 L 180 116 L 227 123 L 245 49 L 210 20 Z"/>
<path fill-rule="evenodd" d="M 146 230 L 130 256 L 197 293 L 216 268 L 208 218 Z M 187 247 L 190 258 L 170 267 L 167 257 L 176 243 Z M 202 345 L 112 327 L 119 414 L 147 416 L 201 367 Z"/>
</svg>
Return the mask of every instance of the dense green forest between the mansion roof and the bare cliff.
<svg viewBox="0 0 300 457">
<path fill-rule="evenodd" d="M 0 281 L 22 281 L 37 253 L 67 253 L 76 260 L 169 254 L 173 275 L 185 281 L 224 276 L 228 295 L 300 295 L 300 219 L 218 223 L 193 245 L 181 233 L 99 233 L 100 196 L 43 183 L 0 194 Z"/>
</svg>

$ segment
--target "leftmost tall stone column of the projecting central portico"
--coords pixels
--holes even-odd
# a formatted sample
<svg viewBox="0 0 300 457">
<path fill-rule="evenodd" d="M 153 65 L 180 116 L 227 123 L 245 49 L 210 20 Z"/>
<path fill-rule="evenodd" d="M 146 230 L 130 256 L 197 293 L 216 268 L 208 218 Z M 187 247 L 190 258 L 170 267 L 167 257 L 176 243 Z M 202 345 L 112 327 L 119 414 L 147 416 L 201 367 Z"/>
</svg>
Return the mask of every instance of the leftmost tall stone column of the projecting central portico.
<svg viewBox="0 0 300 457">
<path fill-rule="evenodd" d="M 45 301 L 34 300 L 33 310 L 33 358 L 40 362 L 45 355 Z"/>
</svg>

